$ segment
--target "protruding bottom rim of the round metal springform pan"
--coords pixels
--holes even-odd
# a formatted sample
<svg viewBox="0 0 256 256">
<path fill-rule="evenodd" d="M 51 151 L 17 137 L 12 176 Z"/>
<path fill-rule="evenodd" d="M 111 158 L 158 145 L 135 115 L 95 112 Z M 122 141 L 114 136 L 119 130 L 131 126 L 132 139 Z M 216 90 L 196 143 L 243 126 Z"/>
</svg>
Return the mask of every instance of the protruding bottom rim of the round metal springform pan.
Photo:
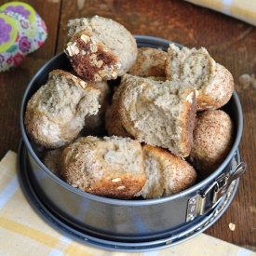
<svg viewBox="0 0 256 256">
<path fill-rule="evenodd" d="M 240 161 L 238 150 L 234 156 L 234 161 Z M 73 225 L 72 222 L 65 222 L 65 220 L 60 218 L 58 214 L 56 215 L 54 211 L 47 207 L 47 204 L 45 204 L 45 202 L 41 199 L 40 195 L 36 194 L 34 190 L 34 184 L 29 177 L 29 173 L 32 170 L 28 160 L 27 150 L 23 141 L 20 142 L 18 165 L 18 177 L 21 189 L 31 206 L 45 222 L 47 222 L 49 225 L 51 225 L 65 236 L 69 236 L 82 244 L 93 246 L 99 249 L 115 251 L 135 252 L 149 251 L 153 249 L 164 249 L 180 244 L 194 236 L 197 236 L 221 218 L 222 214 L 229 207 L 234 196 L 236 195 L 236 190 L 239 184 L 239 179 L 237 179 L 229 188 L 228 193 L 222 197 L 222 200 L 219 202 L 219 204 L 214 209 L 205 214 L 203 218 L 197 220 L 196 222 L 192 222 L 190 227 L 183 225 L 182 228 L 174 230 L 168 236 L 160 239 L 154 239 L 149 242 L 118 242 L 115 240 L 106 240 L 97 236 L 89 236 L 87 232 L 80 231 Z"/>
</svg>

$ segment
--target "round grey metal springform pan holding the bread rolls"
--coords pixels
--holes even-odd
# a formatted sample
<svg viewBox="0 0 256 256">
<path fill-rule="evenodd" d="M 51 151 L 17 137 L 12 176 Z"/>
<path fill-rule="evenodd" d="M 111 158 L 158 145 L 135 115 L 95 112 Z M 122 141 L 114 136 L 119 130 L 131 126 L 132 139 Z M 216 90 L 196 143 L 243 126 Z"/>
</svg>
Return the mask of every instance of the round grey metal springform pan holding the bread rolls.
<svg viewBox="0 0 256 256">
<path fill-rule="evenodd" d="M 172 43 L 165 39 L 144 35 L 135 35 L 135 38 L 138 47 L 167 50 L 168 45 Z M 179 44 L 176 45 L 182 47 Z M 226 182 L 234 180 L 237 187 L 237 177 L 245 170 L 246 165 L 240 163 L 238 156 L 243 115 L 236 91 L 223 107 L 235 123 L 234 145 L 222 165 L 207 179 L 196 183 L 191 188 L 176 195 L 158 199 L 119 200 L 90 195 L 61 181 L 41 162 L 40 147 L 27 136 L 23 124 L 27 102 L 34 92 L 47 82 L 48 73 L 53 69 L 72 70 L 63 52 L 48 61 L 34 75 L 24 93 L 20 108 L 22 146 L 19 163 L 20 181 L 23 181 L 22 187 L 25 194 L 35 196 L 37 204 L 40 202 L 45 211 L 61 224 L 79 234 L 89 236 L 90 241 L 93 237 L 94 241 L 99 241 L 105 249 L 115 249 L 117 245 L 120 246 L 120 250 L 134 250 L 136 247 L 137 250 L 138 248 L 139 250 L 154 249 L 161 247 L 162 243 L 170 246 L 173 244 L 170 242 L 173 241 L 173 237 L 189 237 L 190 233 L 196 233 L 202 222 L 208 222 L 210 214 L 220 207 L 230 192 L 230 188 L 224 186 Z M 238 168 L 236 168 L 237 164 Z M 233 177 L 231 174 L 234 172 L 237 175 Z M 26 179 L 22 175 L 26 175 Z M 28 186 L 31 187 L 30 193 L 26 189 Z M 236 189 L 233 195 L 235 193 Z M 209 222 L 209 225 L 211 223 L 213 222 Z M 177 242 L 182 240 L 184 239 L 178 239 Z M 98 245 L 97 243 L 89 244 Z"/>
</svg>

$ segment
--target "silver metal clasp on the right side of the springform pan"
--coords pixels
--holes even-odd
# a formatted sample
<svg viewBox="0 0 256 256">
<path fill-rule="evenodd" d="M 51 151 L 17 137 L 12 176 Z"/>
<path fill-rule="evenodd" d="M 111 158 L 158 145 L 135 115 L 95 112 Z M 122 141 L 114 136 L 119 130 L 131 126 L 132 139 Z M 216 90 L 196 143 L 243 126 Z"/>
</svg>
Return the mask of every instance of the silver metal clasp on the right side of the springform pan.
<svg viewBox="0 0 256 256">
<path fill-rule="evenodd" d="M 231 174 L 222 173 L 202 194 L 197 194 L 190 198 L 187 203 L 186 222 L 191 222 L 196 216 L 203 215 L 214 209 L 222 199 L 222 196 L 228 191 L 230 184 L 240 178 L 246 168 L 247 164 L 241 162 L 236 166 L 234 172 Z M 209 193 L 211 192 L 212 196 L 210 198 Z"/>
</svg>

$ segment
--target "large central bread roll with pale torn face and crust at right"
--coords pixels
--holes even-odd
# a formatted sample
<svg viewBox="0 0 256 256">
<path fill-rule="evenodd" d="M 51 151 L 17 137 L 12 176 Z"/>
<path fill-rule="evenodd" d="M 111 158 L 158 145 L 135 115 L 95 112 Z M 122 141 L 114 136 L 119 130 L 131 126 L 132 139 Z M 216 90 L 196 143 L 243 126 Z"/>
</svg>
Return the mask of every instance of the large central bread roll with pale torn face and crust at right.
<svg viewBox="0 0 256 256">
<path fill-rule="evenodd" d="M 195 89 L 125 74 L 116 93 L 123 127 L 136 140 L 188 156 L 195 125 Z"/>
</svg>

